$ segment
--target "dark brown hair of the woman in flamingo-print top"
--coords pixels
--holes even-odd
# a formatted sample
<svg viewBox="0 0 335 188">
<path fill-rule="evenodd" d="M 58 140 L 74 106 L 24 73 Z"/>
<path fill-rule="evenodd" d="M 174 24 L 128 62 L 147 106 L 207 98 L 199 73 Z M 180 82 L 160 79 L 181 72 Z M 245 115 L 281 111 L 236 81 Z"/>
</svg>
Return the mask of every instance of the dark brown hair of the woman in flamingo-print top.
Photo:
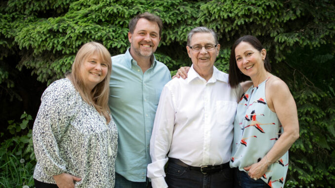
<svg viewBox="0 0 335 188">
<path fill-rule="evenodd" d="M 240 72 L 235 59 L 235 48 L 241 42 L 248 42 L 259 52 L 264 49 L 260 41 L 251 35 L 243 36 L 234 42 L 233 46 L 231 47 L 229 59 L 229 85 L 233 88 L 235 88 L 239 83 L 250 79 L 249 76 Z M 267 72 L 271 72 L 271 65 L 267 55 L 265 56 L 264 67 Z"/>
</svg>

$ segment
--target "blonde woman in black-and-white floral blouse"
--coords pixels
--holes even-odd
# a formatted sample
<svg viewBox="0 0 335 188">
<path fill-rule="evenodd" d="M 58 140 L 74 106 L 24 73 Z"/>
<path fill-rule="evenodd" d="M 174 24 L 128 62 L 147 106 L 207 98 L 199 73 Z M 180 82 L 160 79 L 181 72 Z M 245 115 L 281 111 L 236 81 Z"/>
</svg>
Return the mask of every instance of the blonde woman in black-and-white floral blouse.
<svg viewBox="0 0 335 188">
<path fill-rule="evenodd" d="M 72 73 L 45 89 L 33 128 L 36 188 L 114 187 L 118 134 L 107 105 L 111 69 L 108 50 L 88 42 Z"/>
</svg>

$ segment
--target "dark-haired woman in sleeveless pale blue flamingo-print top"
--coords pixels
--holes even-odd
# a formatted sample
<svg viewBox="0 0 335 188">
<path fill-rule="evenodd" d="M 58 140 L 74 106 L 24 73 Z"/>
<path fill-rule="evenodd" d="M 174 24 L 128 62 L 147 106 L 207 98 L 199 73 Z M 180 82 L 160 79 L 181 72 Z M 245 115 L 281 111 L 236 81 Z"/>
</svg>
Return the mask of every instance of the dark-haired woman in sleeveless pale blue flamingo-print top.
<svg viewBox="0 0 335 188">
<path fill-rule="evenodd" d="M 266 50 L 253 36 L 235 41 L 229 60 L 229 84 L 251 78 L 237 107 L 230 166 L 236 188 L 284 187 L 288 150 L 299 137 L 293 96 L 283 80 L 270 73 Z"/>
</svg>

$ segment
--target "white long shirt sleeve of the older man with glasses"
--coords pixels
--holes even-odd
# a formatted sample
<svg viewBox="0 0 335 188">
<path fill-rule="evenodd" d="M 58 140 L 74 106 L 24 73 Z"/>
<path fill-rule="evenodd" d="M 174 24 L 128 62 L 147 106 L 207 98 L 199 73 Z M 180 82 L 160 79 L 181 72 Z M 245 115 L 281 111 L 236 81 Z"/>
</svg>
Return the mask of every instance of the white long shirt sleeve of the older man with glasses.
<svg viewBox="0 0 335 188">
<path fill-rule="evenodd" d="M 152 136 L 150 140 L 150 156 L 152 163 L 148 165 L 148 178 L 151 179 L 153 188 L 167 188 L 164 180 L 166 176 L 164 166 L 168 161 L 167 153 L 170 149 L 175 108 L 172 94 L 168 87 L 163 88 L 158 104 Z"/>
</svg>

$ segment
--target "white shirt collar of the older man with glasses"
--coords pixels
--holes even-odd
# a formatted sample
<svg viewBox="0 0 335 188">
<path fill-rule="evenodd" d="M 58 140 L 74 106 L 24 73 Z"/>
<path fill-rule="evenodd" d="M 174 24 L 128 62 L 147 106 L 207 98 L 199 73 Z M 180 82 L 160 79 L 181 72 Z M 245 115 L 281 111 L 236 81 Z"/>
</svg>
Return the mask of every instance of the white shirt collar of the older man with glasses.
<svg viewBox="0 0 335 188">
<path fill-rule="evenodd" d="M 194 70 L 193 64 L 192 64 L 192 66 L 191 66 L 191 68 L 188 72 L 187 82 L 189 83 L 190 81 L 192 81 L 193 79 L 195 79 L 197 77 L 200 78 L 200 79 L 204 79 Z M 216 69 L 215 66 L 213 66 L 213 75 L 209 78 L 208 83 L 216 82 L 216 80 L 228 83 L 228 74 L 223 74 L 218 69 Z"/>
</svg>

